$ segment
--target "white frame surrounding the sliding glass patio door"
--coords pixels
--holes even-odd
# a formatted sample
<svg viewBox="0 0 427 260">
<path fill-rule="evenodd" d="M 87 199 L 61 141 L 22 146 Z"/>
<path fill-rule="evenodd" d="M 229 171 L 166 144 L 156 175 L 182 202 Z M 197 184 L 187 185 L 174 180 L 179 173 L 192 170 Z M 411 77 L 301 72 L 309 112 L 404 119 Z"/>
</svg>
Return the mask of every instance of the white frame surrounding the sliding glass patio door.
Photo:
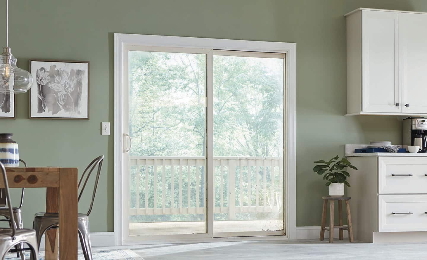
<svg viewBox="0 0 427 260">
<path fill-rule="evenodd" d="M 266 42 L 266 41 L 252 41 L 252 40 L 225 40 L 225 39 L 212 39 L 212 38 L 192 38 L 192 37 L 176 37 L 176 36 L 158 36 L 158 35 L 135 35 L 135 34 L 114 34 L 114 235 L 116 245 L 130 244 L 123 243 L 123 210 L 124 208 L 124 194 L 123 184 L 124 174 L 123 169 L 126 164 L 123 163 L 123 138 L 126 126 L 123 125 L 123 106 L 127 97 L 123 95 L 123 82 L 126 75 L 123 75 L 123 51 L 126 46 L 152 46 L 152 47 L 175 47 L 175 48 L 197 48 L 219 50 L 233 50 L 233 51 L 250 51 L 250 52 L 277 52 L 286 54 L 285 65 L 285 139 L 284 139 L 284 181 L 285 181 L 285 200 L 284 200 L 284 217 L 285 217 L 285 231 L 286 236 L 281 236 L 287 239 L 296 239 L 296 43 L 280 43 L 280 42 Z M 209 61 L 208 61 L 209 62 Z M 212 61 L 210 61 L 212 62 Z M 209 81 L 208 81 L 209 82 Z M 207 86 L 208 96 L 211 94 L 212 86 Z M 208 98 L 212 102 L 211 98 Z M 207 127 L 212 127 L 213 121 L 212 111 L 209 110 L 212 104 L 208 104 L 208 118 Z M 212 115 L 212 116 L 210 116 Z M 212 135 L 210 135 L 212 137 Z M 207 142 L 212 140 L 207 140 Z M 208 150 L 207 150 L 208 152 Z M 212 155 L 211 155 L 212 156 Z M 210 155 L 207 154 L 207 158 Z M 212 160 L 208 160 L 207 169 L 212 167 L 209 165 Z M 207 175 L 207 182 L 213 182 Z M 210 192 L 212 193 L 212 192 Z M 206 196 L 210 195 L 209 191 Z M 208 198 L 209 199 L 209 198 Z M 213 204 L 211 198 L 210 204 Z M 207 217 L 213 217 L 213 205 L 208 205 Z M 208 236 L 213 233 L 212 227 L 208 225 Z M 201 234 L 204 235 L 204 234 Z M 262 238 L 262 237 L 257 237 Z M 158 240 L 155 243 L 178 243 L 178 242 L 207 242 L 211 240 L 209 237 L 198 238 L 183 238 Z M 216 241 L 218 238 L 216 238 Z M 246 240 L 246 239 L 245 239 Z M 146 242 L 140 242 L 146 243 Z"/>
</svg>

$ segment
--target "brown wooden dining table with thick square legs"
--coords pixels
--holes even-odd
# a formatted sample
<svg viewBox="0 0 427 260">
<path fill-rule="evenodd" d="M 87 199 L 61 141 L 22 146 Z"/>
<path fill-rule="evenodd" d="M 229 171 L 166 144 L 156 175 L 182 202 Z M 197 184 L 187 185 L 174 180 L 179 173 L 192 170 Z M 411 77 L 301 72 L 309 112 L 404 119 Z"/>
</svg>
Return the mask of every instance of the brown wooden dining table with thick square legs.
<svg viewBox="0 0 427 260">
<path fill-rule="evenodd" d="M 6 167 L 9 188 L 46 188 L 46 212 L 59 213 L 45 236 L 45 260 L 77 259 L 77 168 Z M 0 178 L 0 188 L 4 188 Z M 59 241 L 58 241 L 59 240 Z"/>
</svg>

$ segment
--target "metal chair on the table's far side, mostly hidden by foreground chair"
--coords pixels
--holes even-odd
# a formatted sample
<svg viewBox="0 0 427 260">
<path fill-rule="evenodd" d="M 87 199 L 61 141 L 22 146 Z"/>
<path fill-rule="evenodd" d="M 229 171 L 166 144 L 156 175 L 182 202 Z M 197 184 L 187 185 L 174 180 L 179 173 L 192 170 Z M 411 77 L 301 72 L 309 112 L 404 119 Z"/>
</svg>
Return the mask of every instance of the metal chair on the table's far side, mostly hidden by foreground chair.
<svg viewBox="0 0 427 260">
<path fill-rule="evenodd" d="M 22 162 L 25 167 L 27 167 L 27 164 L 23 159 L 19 159 L 19 161 Z M 15 228 L 23 228 L 21 208 L 24 200 L 24 191 L 25 191 L 25 188 L 22 188 L 19 207 L 18 208 L 12 207 L 13 217 L 15 220 Z M 12 217 L 10 216 L 9 208 L 6 207 L 6 198 L 7 198 L 6 189 L 1 188 L 0 189 L 0 216 L 5 217 L 6 220 L 0 220 L 0 221 L 9 222 L 9 228 L 12 228 Z M 18 250 L 21 248 L 23 248 L 23 245 L 15 246 L 15 249 L 17 249 L 16 255 L 17 257 L 21 257 L 22 260 L 25 260 L 25 252 L 22 250 Z"/>
</svg>

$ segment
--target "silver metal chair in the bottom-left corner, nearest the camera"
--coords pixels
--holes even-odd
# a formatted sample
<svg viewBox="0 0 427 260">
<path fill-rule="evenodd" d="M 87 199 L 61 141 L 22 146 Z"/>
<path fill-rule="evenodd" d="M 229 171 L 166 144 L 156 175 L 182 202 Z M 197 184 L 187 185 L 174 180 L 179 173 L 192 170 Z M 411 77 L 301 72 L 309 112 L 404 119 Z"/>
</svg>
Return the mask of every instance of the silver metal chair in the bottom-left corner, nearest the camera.
<svg viewBox="0 0 427 260">
<path fill-rule="evenodd" d="M 9 209 L 9 215 L 11 218 L 11 223 L 15 223 L 15 218 L 12 210 L 12 202 L 9 196 L 9 184 L 6 177 L 6 169 L 4 165 L 0 162 L 0 168 L 3 174 L 4 190 L 6 192 L 6 200 Z M 12 249 L 15 246 L 18 246 L 20 243 L 26 243 L 29 248 L 21 249 Z M 6 257 L 6 254 L 9 251 L 13 250 L 31 250 L 31 254 L 34 256 L 33 259 L 38 260 L 38 245 L 37 237 L 34 229 L 29 228 L 16 228 L 15 225 L 12 225 L 12 228 L 0 228 L 0 256 L 1 259 Z M 25 258 L 24 258 L 25 259 Z"/>
</svg>

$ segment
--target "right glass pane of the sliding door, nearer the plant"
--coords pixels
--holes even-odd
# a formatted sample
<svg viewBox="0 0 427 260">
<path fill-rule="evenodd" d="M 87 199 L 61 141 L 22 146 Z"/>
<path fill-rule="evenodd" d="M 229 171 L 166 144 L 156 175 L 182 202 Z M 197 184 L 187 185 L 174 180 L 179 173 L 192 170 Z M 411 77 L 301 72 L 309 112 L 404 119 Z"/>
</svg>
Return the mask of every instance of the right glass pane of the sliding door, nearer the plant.
<svg viewBox="0 0 427 260">
<path fill-rule="evenodd" d="M 214 232 L 283 230 L 284 58 L 213 56 Z"/>
</svg>

